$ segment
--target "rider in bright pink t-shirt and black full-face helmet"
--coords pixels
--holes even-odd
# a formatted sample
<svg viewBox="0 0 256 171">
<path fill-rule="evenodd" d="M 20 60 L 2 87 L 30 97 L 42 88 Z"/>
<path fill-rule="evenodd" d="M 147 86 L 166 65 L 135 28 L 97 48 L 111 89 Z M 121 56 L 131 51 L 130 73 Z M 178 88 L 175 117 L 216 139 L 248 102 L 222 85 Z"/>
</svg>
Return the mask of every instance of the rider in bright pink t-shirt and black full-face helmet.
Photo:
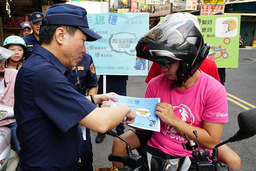
<svg viewBox="0 0 256 171">
<path fill-rule="evenodd" d="M 155 29 L 161 34 L 155 36 Z M 183 20 L 152 28 L 139 40 L 136 50 L 138 57 L 160 64 L 164 72 L 149 82 L 145 92 L 145 98 L 161 98 L 161 103 L 156 105 L 156 115 L 161 118 L 160 132 L 153 133 L 140 155 L 144 163 L 146 152 L 162 159 L 189 156 L 190 170 L 193 170 L 197 159 L 182 148 L 181 143 L 187 142 L 182 135 L 187 133 L 189 139 L 195 139 L 193 131 L 196 130 L 200 149 L 210 150 L 219 143 L 224 123 L 228 121 L 225 87 L 198 69 L 209 47 L 204 45 L 193 21 Z M 133 144 L 139 141 L 136 134 L 124 133 L 122 137 L 131 142 L 130 147 L 138 147 Z M 118 139 L 113 147 L 115 143 L 120 144 Z M 113 154 L 119 155 L 118 151 L 118 147 L 112 149 Z"/>
</svg>

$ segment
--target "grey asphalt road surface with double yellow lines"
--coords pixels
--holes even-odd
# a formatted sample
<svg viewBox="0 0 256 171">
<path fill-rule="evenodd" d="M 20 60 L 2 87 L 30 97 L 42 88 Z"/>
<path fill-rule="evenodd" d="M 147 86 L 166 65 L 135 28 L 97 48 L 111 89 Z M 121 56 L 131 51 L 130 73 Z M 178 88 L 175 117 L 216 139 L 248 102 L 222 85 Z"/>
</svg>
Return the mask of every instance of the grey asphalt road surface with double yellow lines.
<svg viewBox="0 0 256 171">
<path fill-rule="evenodd" d="M 228 113 L 229 122 L 225 124 L 222 141 L 233 136 L 238 130 L 237 116 L 239 113 L 256 107 L 256 49 L 239 49 L 239 67 L 226 69 L 225 87 L 228 93 Z M 147 84 L 146 76 L 129 76 L 127 82 L 127 95 L 131 97 L 143 97 Z M 216 99 L 218 100 L 218 99 Z M 220 102 L 221 103 L 221 102 Z M 106 121 L 107 122 L 107 121 Z M 128 130 L 126 126 L 125 132 Z M 115 129 L 113 129 L 115 131 Z M 108 154 L 111 154 L 111 148 L 114 137 L 106 136 L 100 144 L 95 143 L 96 132 L 91 131 L 93 144 L 93 167 L 112 167 L 108 161 Z M 243 141 L 228 143 L 242 160 L 242 169 L 256 170 L 256 136 Z M 136 151 L 133 151 L 136 153 Z"/>
</svg>

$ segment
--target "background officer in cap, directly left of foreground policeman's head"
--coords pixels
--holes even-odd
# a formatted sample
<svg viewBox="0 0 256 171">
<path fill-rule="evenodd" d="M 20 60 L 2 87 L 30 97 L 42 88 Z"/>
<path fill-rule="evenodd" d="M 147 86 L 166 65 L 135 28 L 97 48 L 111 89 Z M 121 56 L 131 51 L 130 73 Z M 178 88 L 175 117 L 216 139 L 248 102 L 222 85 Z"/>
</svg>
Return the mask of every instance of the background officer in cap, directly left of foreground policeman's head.
<svg viewBox="0 0 256 171">
<path fill-rule="evenodd" d="M 34 12 L 30 14 L 30 26 L 33 29 L 33 33 L 22 37 L 27 45 L 27 52 L 24 57 L 24 61 L 28 59 L 28 57 L 33 54 L 35 45 L 39 45 L 39 30 L 40 24 L 39 22 L 44 18 L 43 13 Z"/>
</svg>

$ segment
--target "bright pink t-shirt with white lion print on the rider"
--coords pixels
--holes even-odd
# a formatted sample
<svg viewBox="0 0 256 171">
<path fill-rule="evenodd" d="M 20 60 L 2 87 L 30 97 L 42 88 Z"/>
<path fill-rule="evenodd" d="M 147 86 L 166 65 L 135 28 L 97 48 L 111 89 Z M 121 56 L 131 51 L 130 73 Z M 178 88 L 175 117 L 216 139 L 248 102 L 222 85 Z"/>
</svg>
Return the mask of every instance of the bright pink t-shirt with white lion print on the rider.
<svg viewBox="0 0 256 171">
<path fill-rule="evenodd" d="M 198 128 L 203 127 L 203 121 L 212 123 L 228 122 L 226 90 L 215 78 L 201 71 L 195 84 L 184 91 L 178 90 L 175 86 L 171 90 L 172 83 L 173 81 L 169 80 L 164 74 L 152 78 L 146 89 L 145 98 L 160 97 L 161 102 L 173 106 L 177 117 Z M 192 157 L 191 151 L 183 149 L 181 145 L 182 142 L 186 143 L 187 140 L 162 120 L 160 124 L 160 132 L 154 132 L 147 144 L 166 154 Z M 200 149 L 205 148 L 200 147 Z"/>
</svg>

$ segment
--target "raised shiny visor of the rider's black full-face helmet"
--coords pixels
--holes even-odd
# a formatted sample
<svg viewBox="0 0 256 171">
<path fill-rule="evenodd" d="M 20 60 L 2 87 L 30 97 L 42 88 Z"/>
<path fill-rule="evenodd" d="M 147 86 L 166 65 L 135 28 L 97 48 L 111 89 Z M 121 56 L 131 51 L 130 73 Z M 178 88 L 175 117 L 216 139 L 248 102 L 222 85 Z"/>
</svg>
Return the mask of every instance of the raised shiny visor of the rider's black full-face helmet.
<svg viewBox="0 0 256 171">
<path fill-rule="evenodd" d="M 192 20 L 184 20 L 180 22 L 175 22 L 174 24 L 161 23 L 154 28 L 152 28 L 146 35 L 146 39 L 154 41 L 156 43 L 162 43 L 171 50 L 176 50 L 181 45 L 186 45 L 189 43 L 194 44 L 195 39 L 191 40 L 184 34 L 191 31 L 191 27 L 194 23 Z M 192 42 L 189 42 L 192 41 Z"/>
</svg>

